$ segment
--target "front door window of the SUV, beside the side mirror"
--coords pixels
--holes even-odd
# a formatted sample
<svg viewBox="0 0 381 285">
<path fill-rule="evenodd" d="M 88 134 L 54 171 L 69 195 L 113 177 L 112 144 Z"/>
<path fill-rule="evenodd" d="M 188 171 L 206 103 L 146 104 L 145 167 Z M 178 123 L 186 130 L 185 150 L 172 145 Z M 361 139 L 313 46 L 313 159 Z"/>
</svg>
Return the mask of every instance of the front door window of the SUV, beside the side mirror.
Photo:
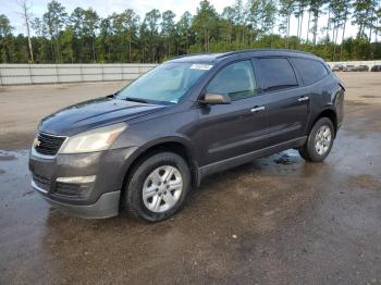
<svg viewBox="0 0 381 285">
<path fill-rule="evenodd" d="M 223 67 L 209 83 L 207 92 L 228 95 L 232 101 L 255 96 L 257 85 L 251 62 L 241 61 Z"/>
</svg>

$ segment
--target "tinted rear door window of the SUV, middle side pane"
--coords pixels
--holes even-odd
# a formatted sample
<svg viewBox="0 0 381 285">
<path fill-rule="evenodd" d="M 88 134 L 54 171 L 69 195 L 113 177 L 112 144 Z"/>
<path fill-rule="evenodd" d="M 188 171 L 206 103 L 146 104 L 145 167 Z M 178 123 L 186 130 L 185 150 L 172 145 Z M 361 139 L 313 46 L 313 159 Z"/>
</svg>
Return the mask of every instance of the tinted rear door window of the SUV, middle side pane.
<svg viewBox="0 0 381 285">
<path fill-rule="evenodd" d="M 297 86 L 296 76 L 287 59 L 259 59 L 265 91 L 281 90 Z"/>
</svg>

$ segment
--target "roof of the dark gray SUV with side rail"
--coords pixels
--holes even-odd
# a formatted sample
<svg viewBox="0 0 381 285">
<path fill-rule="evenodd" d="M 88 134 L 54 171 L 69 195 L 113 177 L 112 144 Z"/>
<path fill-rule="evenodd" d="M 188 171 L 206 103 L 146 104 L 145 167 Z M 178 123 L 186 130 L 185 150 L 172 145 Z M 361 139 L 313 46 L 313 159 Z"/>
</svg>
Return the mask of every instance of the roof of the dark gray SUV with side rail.
<svg viewBox="0 0 381 285">
<path fill-rule="evenodd" d="M 206 52 L 206 53 L 194 53 L 194 54 L 185 54 L 173 58 L 168 62 L 202 62 L 202 63 L 213 63 L 219 60 L 229 59 L 229 58 L 237 58 L 237 57 L 302 57 L 302 58 L 310 58 L 315 60 L 320 60 L 320 58 L 316 57 L 314 53 L 297 51 L 297 50 L 286 50 L 286 49 L 251 49 L 251 50 L 239 50 L 239 51 L 231 51 L 231 52 Z"/>
</svg>

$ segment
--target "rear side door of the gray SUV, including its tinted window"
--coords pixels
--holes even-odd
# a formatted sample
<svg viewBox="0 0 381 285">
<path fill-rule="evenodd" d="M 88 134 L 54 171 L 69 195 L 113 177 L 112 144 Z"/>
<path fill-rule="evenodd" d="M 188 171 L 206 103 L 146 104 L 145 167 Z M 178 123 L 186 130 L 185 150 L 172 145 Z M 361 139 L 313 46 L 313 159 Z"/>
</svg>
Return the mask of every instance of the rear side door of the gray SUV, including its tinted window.
<svg viewBox="0 0 381 285">
<path fill-rule="evenodd" d="M 267 97 L 269 145 L 278 145 L 305 135 L 309 97 L 299 88 L 287 58 L 258 58 L 263 96 Z"/>
</svg>

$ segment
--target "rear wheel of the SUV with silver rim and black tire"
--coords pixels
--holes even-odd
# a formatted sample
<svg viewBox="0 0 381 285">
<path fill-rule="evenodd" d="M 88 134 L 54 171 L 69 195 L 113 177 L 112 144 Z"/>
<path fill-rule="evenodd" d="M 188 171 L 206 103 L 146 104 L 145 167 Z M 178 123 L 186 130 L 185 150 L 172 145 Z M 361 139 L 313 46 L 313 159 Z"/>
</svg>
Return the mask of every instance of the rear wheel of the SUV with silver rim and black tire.
<svg viewBox="0 0 381 285">
<path fill-rule="evenodd" d="M 327 129 L 329 129 L 329 141 Z M 322 134 L 325 135 L 322 136 Z M 299 154 L 306 161 L 321 162 L 330 154 L 333 140 L 334 127 L 332 121 L 328 117 L 321 117 L 315 123 L 306 144 L 299 149 Z M 319 144 L 317 145 L 317 142 Z"/>
</svg>

